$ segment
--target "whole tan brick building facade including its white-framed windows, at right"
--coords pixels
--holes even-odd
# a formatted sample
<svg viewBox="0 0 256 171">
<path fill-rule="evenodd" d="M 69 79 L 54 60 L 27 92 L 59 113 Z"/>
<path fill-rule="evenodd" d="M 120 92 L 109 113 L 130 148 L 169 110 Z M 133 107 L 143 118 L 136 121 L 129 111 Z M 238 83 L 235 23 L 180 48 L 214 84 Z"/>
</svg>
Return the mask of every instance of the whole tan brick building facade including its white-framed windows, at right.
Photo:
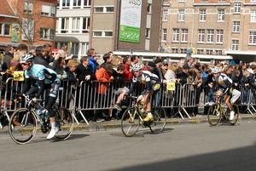
<svg viewBox="0 0 256 171">
<path fill-rule="evenodd" d="M 163 8 L 161 45 L 172 54 L 256 60 L 255 0 L 176 0 Z"/>
</svg>

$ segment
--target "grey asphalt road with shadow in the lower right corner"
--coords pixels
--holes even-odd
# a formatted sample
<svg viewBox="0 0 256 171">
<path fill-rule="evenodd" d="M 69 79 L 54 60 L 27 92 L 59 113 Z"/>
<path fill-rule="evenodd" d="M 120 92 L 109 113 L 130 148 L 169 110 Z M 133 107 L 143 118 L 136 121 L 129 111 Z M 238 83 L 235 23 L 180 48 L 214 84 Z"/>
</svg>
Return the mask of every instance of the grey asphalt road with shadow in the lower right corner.
<svg viewBox="0 0 256 171">
<path fill-rule="evenodd" d="M 1 170 L 255 170 L 256 121 L 209 127 L 207 123 L 169 126 L 161 134 L 140 128 L 74 133 L 66 141 L 38 134 L 29 144 L 0 137 Z"/>
</svg>

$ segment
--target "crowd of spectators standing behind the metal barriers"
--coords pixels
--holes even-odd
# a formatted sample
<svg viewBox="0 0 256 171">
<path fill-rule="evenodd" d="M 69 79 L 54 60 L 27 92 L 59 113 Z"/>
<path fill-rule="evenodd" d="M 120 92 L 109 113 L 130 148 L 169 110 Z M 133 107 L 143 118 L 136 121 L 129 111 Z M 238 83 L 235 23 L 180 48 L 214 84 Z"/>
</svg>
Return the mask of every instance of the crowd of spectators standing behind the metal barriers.
<svg viewBox="0 0 256 171">
<path fill-rule="evenodd" d="M 109 119 L 119 119 L 122 101 L 125 98 L 125 94 L 129 91 L 129 82 L 133 77 L 132 66 L 138 62 L 143 64 L 143 70 L 148 70 L 147 62 L 140 61 L 137 55 L 131 55 L 126 57 L 113 56 L 112 52 L 103 54 L 103 63 L 98 64 L 98 55 L 94 48 L 90 48 L 87 51 L 87 56 L 84 56 L 78 60 L 73 60 L 73 54 L 68 54 L 67 46 L 63 46 L 61 49 L 52 49 L 51 46 L 46 43 L 43 46 L 37 48 L 28 49 L 25 44 L 20 44 L 17 48 L 7 46 L 6 52 L 3 56 L 2 72 L 3 81 L 8 77 L 13 77 L 14 71 L 21 71 L 19 59 L 22 54 L 33 54 L 35 64 L 40 64 L 49 67 L 57 72 L 57 77 L 61 80 L 67 80 L 70 85 L 76 86 L 76 90 L 80 94 L 86 94 L 91 97 L 90 100 L 80 100 L 75 105 L 80 104 L 83 108 L 83 104 L 90 103 L 91 106 L 100 106 L 102 103 L 108 105 L 108 110 L 96 110 L 96 111 L 84 111 L 84 116 L 88 120 L 102 122 Z M 221 63 L 217 61 L 214 65 L 209 66 L 207 64 L 201 64 L 195 58 L 181 59 L 178 62 L 168 62 L 161 60 L 157 57 L 154 60 L 154 73 L 160 78 L 160 80 L 172 81 L 181 85 L 191 84 L 189 91 L 194 91 L 195 105 L 189 107 L 187 111 L 190 116 L 196 116 L 199 114 L 198 105 L 201 105 L 201 96 L 203 96 L 203 105 L 212 105 L 214 102 L 214 92 L 216 89 L 212 87 L 212 67 L 219 67 L 228 77 L 233 80 L 234 87 L 239 84 L 247 87 L 253 86 L 256 88 L 254 82 L 254 73 L 256 72 L 256 65 L 248 65 L 244 62 L 238 65 L 229 65 L 228 63 Z M 99 83 L 94 85 L 92 82 L 98 81 Z M 87 83 L 87 87 L 79 88 L 79 83 Z M 110 82 L 110 83 L 109 83 Z M 113 86 L 109 88 L 109 86 Z M 64 88 L 68 88 L 67 85 L 62 85 Z M 139 88 L 143 88 L 140 86 Z M 88 91 L 90 89 L 90 91 Z M 172 105 L 178 104 L 179 98 L 189 99 L 189 94 L 183 94 L 179 96 L 180 92 L 166 90 L 166 85 L 162 85 L 159 94 L 155 97 L 157 105 L 160 105 L 163 98 L 172 99 Z M 161 95 L 161 94 L 164 94 Z M 203 93 L 203 94 L 201 94 Z M 96 94 L 96 95 L 93 95 Z M 108 94 L 115 94 L 116 99 L 108 100 Z M 95 98 L 95 99 L 94 99 Z M 63 97 L 62 97 L 63 99 Z M 65 98 L 64 98 L 65 99 Z M 185 103 L 189 103 L 183 100 Z M 241 94 L 241 103 L 247 102 L 247 91 L 243 91 Z M 62 104 L 62 103 L 61 103 Z M 170 104 L 171 105 L 171 104 Z M 186 104 L 185 104 L 186 105 Z M 115 110 L 114 107 L 118 110 Z M 177 109 L 166 109 L 167 116 L 172 117 L 177 112 Z M 202 113 L 201 113 L 202 114 Z M 207 107 L 205 107 L 204 114 L 207 114 Z M 82 119 L 82 118 L 81 118 Z"/>
</svg>

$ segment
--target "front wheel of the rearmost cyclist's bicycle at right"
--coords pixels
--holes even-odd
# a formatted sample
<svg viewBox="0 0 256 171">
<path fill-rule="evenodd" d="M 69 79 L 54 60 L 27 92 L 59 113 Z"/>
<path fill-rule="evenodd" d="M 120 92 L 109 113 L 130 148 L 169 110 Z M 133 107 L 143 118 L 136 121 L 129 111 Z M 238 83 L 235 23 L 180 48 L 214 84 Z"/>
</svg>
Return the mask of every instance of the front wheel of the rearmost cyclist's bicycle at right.
<svg viewBox="0 0 256 171">
<path fill-rule="evenodd" d="M 208 111 L 208 123 L 211 126 L 216 126 L 221 121 L 221 111 L 218 108 L 218 104 L 213 104 Z"/>
</svg>

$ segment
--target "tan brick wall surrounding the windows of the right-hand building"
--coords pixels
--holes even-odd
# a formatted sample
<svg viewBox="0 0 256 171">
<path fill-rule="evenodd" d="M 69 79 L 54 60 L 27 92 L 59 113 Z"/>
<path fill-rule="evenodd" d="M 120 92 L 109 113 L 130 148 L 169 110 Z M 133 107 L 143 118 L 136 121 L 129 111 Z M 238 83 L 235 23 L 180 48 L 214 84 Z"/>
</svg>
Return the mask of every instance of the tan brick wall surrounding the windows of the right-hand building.
<svg viewBox="0 0 256 171">
<path fill-rule="evenodd" d="M 241 13 L 234 14 L 234 3 L 241 2 Z M 250 3 L 247 1 L 218 1 L 208 0 L 201 1 L 195 0 L 179 3 L 172 1 L 168 5 L 164 6 L 164 10 L 167 10 L 167 20 L 163 21 L 163 28 L 167 29 L 166 41 L 161 42 L 161 45 L 172 52 L 172 48 L 178 48 L 178 54 L 181 53 L 181 48 L 195 48 L 195 54 L 197 49 L 204 49 L 204 54 L 207 54 L 207 50 L 212 50 L 210 58 L 214 58 L 216 50 L 222 50 L 222 54 L 227 51 L 234 51 L 232 49 L 232 40 L 239 41 L 239 48 L 234 53 L 243 54 L 244 51 L 251 51 L 252 54 L 256 54 L 255 45 L 248 45 L 249 31 L 256 30 L 256 22 L 251 22 L 251 10 L 255 10 L 256 3 Z M 184 21 L 178 21 L 178 10 L 183 9 L 185 14 Z M 200 21 L 200 11 L 206 10 L 206 20 Z M 218 9 L 224 9 L 224 21 L 218 21 Z M 239 32 L 233 31 L 234 21 L 240 21 Z M 173 29 L 188 29 L 188 42 L 175 43 L 172 41 Z M 198 43 L 198 30 L 205 29 L 205 42 Z M 214 30 L 213 43 L 207 43 L 207 30 Z M 224 38 L 223 43 L 216 43 L 216 31 L 223 30 Z M 181 33 L 180 33 L 181 34 Z M 162 32 L 163 35 L 163 32 Z"/>
</svg>

